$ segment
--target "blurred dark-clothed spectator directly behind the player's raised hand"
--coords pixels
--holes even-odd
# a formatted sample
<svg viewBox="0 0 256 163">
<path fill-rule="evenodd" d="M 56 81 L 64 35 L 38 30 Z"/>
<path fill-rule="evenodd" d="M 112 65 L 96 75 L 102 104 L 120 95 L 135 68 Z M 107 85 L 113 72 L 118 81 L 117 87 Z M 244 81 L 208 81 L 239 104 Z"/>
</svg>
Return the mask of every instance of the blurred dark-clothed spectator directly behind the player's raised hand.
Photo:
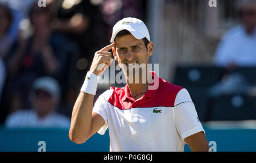
<svg viewBox="0 0 256 163">
<path fill-rule="evenodd" d="M 88 0 L 53 0 L 51 5 L 51 10 L 55 13 L 51 27 L 54 31 L 67 36 L 72 43 L 77 45 L 79 51 L 75 57 L 76 65 L 73 66 L 76 69 L 72 73 L 75 82 L 65 94 L 67 103 L 64 106 L 68 104 L 73 107 L 76 101 L 75 97 L 83 82 L 81 76 L 88 70 L 88 65 L 92 62 L 96 49 L 103 47 L 108 42 L 105 37 L 105 24 L 98 9 L 100 4 L 92 2 Z"/>
</svg>

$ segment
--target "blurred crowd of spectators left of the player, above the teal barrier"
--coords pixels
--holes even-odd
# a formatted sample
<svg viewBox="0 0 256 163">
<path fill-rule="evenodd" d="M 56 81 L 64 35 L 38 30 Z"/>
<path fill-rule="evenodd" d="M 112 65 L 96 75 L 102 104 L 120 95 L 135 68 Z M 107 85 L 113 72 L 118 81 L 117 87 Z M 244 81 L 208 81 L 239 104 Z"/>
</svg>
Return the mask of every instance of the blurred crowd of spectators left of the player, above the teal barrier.
<svg viewBox="0 0 256 163">
<path fill-rule="evenodd" d="M 0 123 L 68 127 L 94 52 L 146 1 L 0 0 Z"/>
</svg>

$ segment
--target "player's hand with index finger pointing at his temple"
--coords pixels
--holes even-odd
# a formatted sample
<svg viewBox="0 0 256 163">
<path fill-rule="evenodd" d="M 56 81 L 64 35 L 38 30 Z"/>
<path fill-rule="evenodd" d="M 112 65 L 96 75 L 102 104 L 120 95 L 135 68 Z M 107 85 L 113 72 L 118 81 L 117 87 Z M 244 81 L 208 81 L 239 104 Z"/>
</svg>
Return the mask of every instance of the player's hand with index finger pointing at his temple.
<svg viewBox="0 0 256 163">
<path fill-rule="evenodd" d="M 94 54 L 92 65 L 90 66 L 89 72 L 100 76 L 101 73 L 105 71 L 105 69 L 109 68 L 112 61 L 112 54 L 108 52 L 112 47 L 115 46 L 115 42 L 106 47 L 102 48 L 100 51 L 97 51 Z M 105 66 L 102 66 L 105 64 Z M 100 69 L 101 68 L 101 69 Z"/>
</svg>

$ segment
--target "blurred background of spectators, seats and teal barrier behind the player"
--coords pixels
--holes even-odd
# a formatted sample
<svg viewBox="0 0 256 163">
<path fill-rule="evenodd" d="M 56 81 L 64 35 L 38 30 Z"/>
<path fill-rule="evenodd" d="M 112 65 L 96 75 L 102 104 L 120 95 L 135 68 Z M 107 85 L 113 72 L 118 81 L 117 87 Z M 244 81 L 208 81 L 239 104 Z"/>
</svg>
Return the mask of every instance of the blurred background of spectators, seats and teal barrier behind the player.
<svg viewBox="0 0 256 163">
<path fill-rule="evenodd" d="M 108 134 L 74 144 L 68 129 L 94 52 L 129 16 L 148 27 L 150 62 L 189 91 L 217 151 L 256 151 L 255 0 L 0 0 L 0 151 L 37 151 L 40 140 L 47 151 L 109 151 Z M 94 100 L 109 86 L 123 85 L 98 85 Z"/>
</svg>

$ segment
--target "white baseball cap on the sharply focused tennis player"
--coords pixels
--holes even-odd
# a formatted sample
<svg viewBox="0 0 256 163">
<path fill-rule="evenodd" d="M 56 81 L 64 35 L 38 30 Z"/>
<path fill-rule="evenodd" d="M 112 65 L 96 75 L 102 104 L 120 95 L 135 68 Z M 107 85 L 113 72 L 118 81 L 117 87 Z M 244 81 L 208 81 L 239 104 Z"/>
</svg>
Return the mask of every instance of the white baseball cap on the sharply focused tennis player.
<svg viewBox="0 0 256 163">
<path fill-rule="evenodd" d="M 113 43 L 115 36 L 122 30 L 129 31 L 136 39 L 140 40 L 144 37 L 150 41 L 150 35 L 146 25 L 137 18 L 123 18 L 119 20 L 113 27 L 112 37 L 110 42 Z"/>
</svg>

